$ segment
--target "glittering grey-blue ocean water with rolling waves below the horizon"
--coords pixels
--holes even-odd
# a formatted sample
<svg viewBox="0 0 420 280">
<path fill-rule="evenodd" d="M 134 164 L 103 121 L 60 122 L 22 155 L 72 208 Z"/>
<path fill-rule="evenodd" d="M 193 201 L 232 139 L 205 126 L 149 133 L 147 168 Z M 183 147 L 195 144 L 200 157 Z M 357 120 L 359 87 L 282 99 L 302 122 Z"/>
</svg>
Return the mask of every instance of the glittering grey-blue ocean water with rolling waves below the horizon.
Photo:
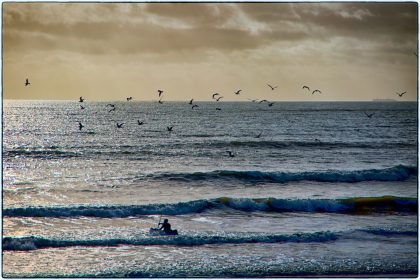
<svg viewBox="0 0 420 280">
<path fill-rule="evenodd" d="M 417 103 L 197 104 L 5 101 L 3 276 L 418 274 Z"/>
</svg>

